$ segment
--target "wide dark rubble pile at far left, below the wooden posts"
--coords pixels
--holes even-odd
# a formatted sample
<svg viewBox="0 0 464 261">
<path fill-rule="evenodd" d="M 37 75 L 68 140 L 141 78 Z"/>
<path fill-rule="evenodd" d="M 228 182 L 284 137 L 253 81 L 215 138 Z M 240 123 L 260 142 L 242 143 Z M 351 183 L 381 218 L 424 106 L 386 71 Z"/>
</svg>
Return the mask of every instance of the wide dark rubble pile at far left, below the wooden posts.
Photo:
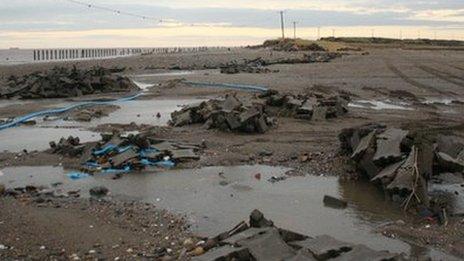
<svg viewBox="0 0 464 261">
<path fill-rule="evenodd" d="M 88 94 L 127 92 L 138 87 L 127 77 L 112 74 L 115 70 L 94 67 L 87 70 L 55 67 L 47 73 L 35 72 L 10 77 L 0 97 L 22 99 L 68 98 Z"/>
</svg>

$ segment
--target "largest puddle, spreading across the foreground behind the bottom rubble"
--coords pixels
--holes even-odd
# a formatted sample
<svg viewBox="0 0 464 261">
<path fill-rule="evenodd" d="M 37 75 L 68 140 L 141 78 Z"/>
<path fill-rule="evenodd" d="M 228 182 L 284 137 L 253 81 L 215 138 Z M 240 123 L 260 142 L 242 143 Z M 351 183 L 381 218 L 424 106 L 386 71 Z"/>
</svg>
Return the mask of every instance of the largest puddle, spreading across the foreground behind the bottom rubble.
<svg viewBox="0 0 464 261">
<path fill-rule="evenodd" d="M 276 225 L 308 235 L 329 234 L 378 250 L 413 252 L 402 241 L 372 232 L 375 226 L 395 221 L 402 214 L 368 183 L 341 183 L 335 177 L 316 176 L 292 177 L 277 183 L 267 181 L 287 170 L 258 165 L 207 167 L 134 173 L 119 180 L 96 176 L 70 181 L 62 168 L 16 167 L 1 170 L 4 176 L 0 182 L 7 187 L 62 182 L 65 190 L 81 189 L 85 193 L 93 186 L 103 185 L 115 197 L 188 214 L 192 229 L 201 235 L 223 232 L 258 208 L 272 217 Z M 261 180 L 254 177 L 256 173 L 261 173 Z M 345 198 L 350 206 L 345 210 L 324 207 L 325 194 Z M 440 256 L 439 252 L 431 251 L 432 255 Z"/>
</svg>

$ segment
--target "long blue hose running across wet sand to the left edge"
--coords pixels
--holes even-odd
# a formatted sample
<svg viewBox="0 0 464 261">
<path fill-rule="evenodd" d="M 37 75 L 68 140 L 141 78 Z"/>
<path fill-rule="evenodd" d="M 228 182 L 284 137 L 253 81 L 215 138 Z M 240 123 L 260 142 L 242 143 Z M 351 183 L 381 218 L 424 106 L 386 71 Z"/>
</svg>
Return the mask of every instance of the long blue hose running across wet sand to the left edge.
<svg viewBox="0 0 464 261">
<path fill-rule="evenodd" d="M 134 99 L 140 97 L 141 95 L 142 95 L 142 93 L 139 93 L 139 94 L 136 94 L 136 95 L 133 95 L 133 96 L 124 97 L 124 98 L 113 100 L 113 101 L 81 102 L 81 103 L 73 104 L 73 105 L 70 105 L 70 106 L 67 106 L 67 107 L 63 107 L 63 108 L 49 109 L 49 110 L 33 112 L 33 113 L 30 113 L 30 114 L 27 114 L 27 115 L 24 115 L 24 116 L 16 117 L 11 122 L 1 124 L 0 125 L 0 130 L 15 127 L 18 124 L 21 124 L 23 122 L 26 122 L 28 120 L 31 120 L 31 119 L 34 119 L 34 118 L 37 118 L 37 117 L 42 117 L 42 116 L 46 116 L 46 115 L 53 115 L 53 114 L 60 114 L 60 113 L 64 113 L 64 112 L 74 110 L 74 109 L 77 109 L 77 108 L 81 108 L 81 107 L 89 107 L 89 106 L 96 106 L 96 105 L 107 105 L 107 104 L 131 101 L 131 100 L 134 100 Z"/>
</svg>

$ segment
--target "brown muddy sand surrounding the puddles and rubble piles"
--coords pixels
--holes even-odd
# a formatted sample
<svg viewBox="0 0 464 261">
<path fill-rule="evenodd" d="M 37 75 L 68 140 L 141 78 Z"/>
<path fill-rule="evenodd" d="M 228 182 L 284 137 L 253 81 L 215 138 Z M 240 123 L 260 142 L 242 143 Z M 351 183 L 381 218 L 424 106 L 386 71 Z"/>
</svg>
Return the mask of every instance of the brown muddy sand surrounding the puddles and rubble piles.
<svg viewBox="0 0 464 261">
<path fill-rule="evenodd" d="M 227 133 L 207 130 L 201 125 L 173 128 L 161 123 L 159 125 L 162 126 L 153 127 L 150 126 L 152 124 L 149 124 L 149 120 L 148 122 L 140 120 L 138 124 L 130 124 L 131 121 L 137 123 L 137 118 L 143 118 L 144 115 L 139 117 L 136 115 L 133 120 L 124 122 L 122 126 L 103 123 L 99 126 L 77 124 L 72 127 L 64 127 L 59 123 L 56 126 L 53 126 L 53 123 L 45 126 L 46 128 L 64 130 L 67 128 L 93 130 L 97 136 L 97 132 L 111 130 L 112 128 L 124 128 L 126 130 L 154 128 L 157 137 L 162 139 L 175 139 L 190 143 L 204 141 L 206 149 L 202 151 L 200 160 L 180 166 L 180 168 L 186 169 L 204 166 L 264 164 L 291 167 L 295 170 L 296 175 L 310 174 L 352 178 L 353 170 L 347 166 L 347 159 L 338 154 L 338 134 L 344 128 L 369 122 L 379 122 L 388 126 L 409 129 L 437 128 L 440 131 L 453 132 L 455 135 L 464 136 L 464 126 L 462 125 L 464 70 L 463 66 L 461 66 L 461 64 L 464 64 L 464 52 L 401 49 L 369 49 L 365 51 L 369 51 L 369 55 L 352 52 L 329 63 L 272 65 L 269 68 L 273 72 L 262 74 L 240 73 L 226 75 L 220 74 L 215 68 L 232 60 L 257 57 L 295 57 L 301 55 L 301 53 L 284 53 L 261 49 L 233 49 L 231 51 L 208 52 L 205 54 L 160 54 L 93 62 L 3 66 L 0 67 L 0 79 L 6 79 L 11 74 L 20 75 L 35 70 L 46 70 L 54 65 L 71 66 L 76 64 L 81 68 L 101 65 L 104 67 L 126 67 L 127 70 L 123 74 L 132 77 L 137 82 L 146 84 L 145 87 L 153 85 L 148 89 L 147 95 L 142 97 L 142 100 L 152 101 L 153 104 L 173 98 L 183 100 L 207 99 L 236 93 L 236 91 L 218 88 L 192 87 L 183 83 L 172 84 L 170 81 L 175 79 L 186 79 L 194 82 L 259 85 L 292 94 L 304 94 L 316 90 L 327 94 L 348 93 L 351 96 L 352 104 L 349 113 L 345 117 L 322 122 L 278 117 L 278 125 L 265 134 Z M 175 75 L 165 74 L 168 72 L 166 69 L 169 68 L 182 70 L 174 71 Z M 189 72 L 184 73 L 183 71 Z M 249 94 L 239 93 L 239 95 Z M 73 100 L 91 98 L 100 97 L 91 96 Z M 454 102 L 451 102 L 452 100 Z M 68 101 L 2 100 L 0 101 L 0 115 L 1 118 L 18 116 L 39 109 L 58 106 Z M 379 102 L 383 103 L 379 105 Z M 379 105 L 379 107 L 376 107 L 376 105 Z M 393 107 L 391 107 L 392 105 Z M 385 106 L 387 109 L 384 109 Z M 148 114 L 151 114 L 153 121 L 155 121 L 154 116 L 159 112 L 156 105 L 149 109 L 152 111 Z M 108 112 L 112 111 L 113 109 L 108 110 Z M 117 110 L 115 113 L 117 113 Z M 169 113 L 166 112 L 166 114 Z M 36 127 L 44 126 L 39 123 Z M 0 145 L 0 151 L 3 150 L 6 149 Z M 50 153 L 34 152 L 33 150 L 0 153 L 0 168 L 44 165 L 73 166 L 73 164 L 77 163 L 72 159 Z M 23 257 L 21 254 L 43 257 L 40 252 L 41 245 L 45 245 L 46 249 L 54 248 L 54 251 L 65 248 L 66 253 L 62 254 L 62 256 L 69 256 L 73 253 L 82 256 L 85 251 L 91 250 L 92 245 L 95 244 L 92 240 L 82 240 L 84 241 L 82 245 L 74 245 L 75 248 L 67 247 L 73 244 L 75 232 L 72 231 L 76 231 L 77 228 L 65 230 L 62 223 L 56 225 L 54 222 L 45 223 L 43 221 L 49 220 L 47 217 L 53 217 L 53 219 L 66 220 L 66 223 L 87 226 L 88 223 L 97 222 L 94 221 L 97 218 L 94 212 L 88 211 L 91 207 L 88 207 L 87 204 L 97 204 L 95 208 L 98 209 L 100 203 L 85 203 L 85 200 L 84 203 L 65 201 L 66 203 L 62 203 L 62 206 L 65 207 L 46 206 L 42 208 L 38 207 L 37 204 L 24 204 L 18 200 L 1 200 L 2 206 L 5 207 L 2 207 L 0 212 L 0 221 L 2 221 L 0 229 L 2 234 L 10 236 L 7 237 L 6 243 L 0 240 L 0 244 L 16 245 L 17 243 L 12 238 L 18 234 L 24 235 L 26 238 L 19 240 L 22 243 L 16 247 L 20 249 L 18 252 L 8 252 L 6 257 L 21 258 Z M 82 204 L 87 207 L 81 207 Z M 106 207 L 103 204 L 101 207 L 112 208 L 112 206 Z M 70 211 L 66 208 L 69 208 Z M 124 209 L 124 207 L 122 208 Z M 7 209 L 11 211 L 6 211 Z M 70 214 L 71 211 L 78 214 L 72 215 Z M 15 218 L 18 216 L 21 218 Z M 404 220 L 408 220 L 408 218 L 404 218 Z M 121 222 L 123 228 L 119 227 Z M 124 241 L 128 242 L 126 244 L 128 247 L 121 247 L 121 249 L 126 248 L 123 249 L 124 251 L 121 250 L 116 255 L 116 253 L 108 254 L 111 250 L 108 252 L 108 250 L 102 249 L 97 250 L 97 253 L 101 252 L 105 257 L 127 257 L 127 248 L 135 248 L 137 242 L 139 242 L 138 247 L 140 247 L 141 240 L 138 241 L 138 239 L 146 238 L 146 235 L 143 236 L 143 233 L 133 231 L 126 233 L 128 226 L 125 225 L 125 222 L 120 221 L 120 223 L 102 225 L 102 231 L 108 231 L 109 234 L 94 231 L 91 233 L 95 234 L 82 233 L 82 237 L 102 236 L 102 244 L 108 247 L 112 244 L 118 244 L 118 242 L 113 242 L 114 236 L 112 233 L 120 233 L 124 235 Z M 130 221 L 127 222 L 130 224 Z M 459 219 L 452 220 L 450 226 L 459 227 L 462 225 L 461 222 L 462 220 Z M 24 224 L 28 225 L 24 226 Z M 433 246 L 446 253 L 463 257 L 462 236 L 456 236 L 454 232 L 447 233 L 447 228 L 442 228 L 436 224 L 431 225 L 434 226 L 433 230 L 420 229 L 422 225 L 416 225 L 416 229 L 409 231 L 411 226 L 411 223 L 396 223 L 394 228 L 389 227 L 390 233 L 388 235 L 395 234 L 398 237 L 405 238 L 406 241 L 413 241 L 417 245 Z M 36 233 L 26 233 L 31 230 L 37 233 L 41 233 L 39 231 L 56 231 L 52 234 L 61 234 L 63 238 L 58 240 L 51 235 L 43 236 L 44 238 L 39 238 L 40 240 L 32 240 L 34 237 L 31 235 Z M 429 231 L 432 232 L 428 233 Z M 184 237 L 182 233 L 179 232 L 179 238 Z M 424 238 L 434 237 L 434 235 L 446 237 L 447 239 L 423 240 Z M 81 237 L 79 236 L 79 238 Z M 47 240 L 50 242 L 49 245 L 40 243 Z M 156 237 L 155 239 L 152 238 L 151 245 L 158 245 L 157 240 L 159 239 Z M 50 255 L 51 252 L 47 252 L 47 254 Z"/>
</svg>

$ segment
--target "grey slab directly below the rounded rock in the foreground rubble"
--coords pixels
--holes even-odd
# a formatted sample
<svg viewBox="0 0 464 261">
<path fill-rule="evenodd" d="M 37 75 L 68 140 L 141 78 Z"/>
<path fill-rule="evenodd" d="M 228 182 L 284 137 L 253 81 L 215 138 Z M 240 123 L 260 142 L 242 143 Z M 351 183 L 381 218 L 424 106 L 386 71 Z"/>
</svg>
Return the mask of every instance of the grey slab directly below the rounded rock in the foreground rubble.
<svg viewBox="0 0 464 261">
<path fill-rule="evenodd" d="M 248 248 L 254 260 L 281 261 L 293 257 L 296 252 L 280 237 L 276 228 L 264 234 L 237 242 L 238 245 Z"/>
</svg>

